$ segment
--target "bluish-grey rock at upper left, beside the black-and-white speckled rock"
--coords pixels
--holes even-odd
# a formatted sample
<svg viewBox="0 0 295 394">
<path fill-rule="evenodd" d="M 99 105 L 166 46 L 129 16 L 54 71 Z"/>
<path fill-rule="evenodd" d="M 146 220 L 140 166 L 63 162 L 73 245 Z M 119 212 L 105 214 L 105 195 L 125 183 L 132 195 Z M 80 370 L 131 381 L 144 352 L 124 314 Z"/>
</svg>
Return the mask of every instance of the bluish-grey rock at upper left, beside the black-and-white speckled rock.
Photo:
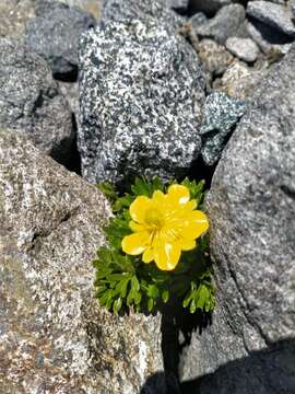
<svg viewBox="0 0 295 394">
<path fill-rule="evenodd" d="M 57 79 L 76 80 L 79 39 L 95 25 L 95 19 L 76 8 L 48 0 L 37 3 L 36 14 L 26 26 L 26 45 L 48 61 Z"/>
</svg>

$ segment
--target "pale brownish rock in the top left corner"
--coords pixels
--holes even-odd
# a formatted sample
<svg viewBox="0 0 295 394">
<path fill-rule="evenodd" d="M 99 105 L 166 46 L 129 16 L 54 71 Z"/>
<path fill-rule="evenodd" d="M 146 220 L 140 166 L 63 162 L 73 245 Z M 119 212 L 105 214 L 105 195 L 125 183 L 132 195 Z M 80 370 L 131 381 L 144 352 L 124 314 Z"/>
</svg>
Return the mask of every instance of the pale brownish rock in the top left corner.
<svg viewBox="0 0 295 394">
<path fill-rule="evenodd" d="M 33 0 L 1 0 L 0 37 L 22 37 L 27 20 L 33 16 Z"/>
</svg>

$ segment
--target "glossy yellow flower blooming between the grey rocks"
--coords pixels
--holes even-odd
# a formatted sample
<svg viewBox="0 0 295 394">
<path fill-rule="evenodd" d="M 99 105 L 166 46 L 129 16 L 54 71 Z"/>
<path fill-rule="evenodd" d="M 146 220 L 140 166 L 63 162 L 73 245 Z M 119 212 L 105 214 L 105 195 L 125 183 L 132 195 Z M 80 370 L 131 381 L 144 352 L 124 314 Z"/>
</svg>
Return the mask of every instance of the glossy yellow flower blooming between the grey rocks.
<svg viewBox="0 0 295 394">
<path fill-rule="evenodd" d="M 194 248 L 196 239 L 209 228 L 206 216 L 196 207 L 189 189 L 177 184 L 167 194 L 156 190 L 152 198 L 137 197 L 129 209 L 133 234 L 123 237 L 123 252 L 143 254 L 144 263 L 154 260 L 160 269 L 174 269 L 181 251 Z"/>
</svg>

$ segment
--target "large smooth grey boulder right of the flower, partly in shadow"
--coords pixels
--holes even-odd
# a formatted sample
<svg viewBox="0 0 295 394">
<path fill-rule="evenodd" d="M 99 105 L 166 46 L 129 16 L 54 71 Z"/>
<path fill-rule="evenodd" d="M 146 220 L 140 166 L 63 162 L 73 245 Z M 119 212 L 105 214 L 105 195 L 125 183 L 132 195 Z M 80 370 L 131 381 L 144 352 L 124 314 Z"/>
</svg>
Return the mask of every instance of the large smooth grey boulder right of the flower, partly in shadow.
<svg viewBox="0 0 295 394">
<path fill-rule="evenodd" d="M 257 86 L 213 177 L 217 308 L 184 376 L 202 376 L 200 394 L 295 392 L 294 106 L 295 46 Z"/>
</svg>

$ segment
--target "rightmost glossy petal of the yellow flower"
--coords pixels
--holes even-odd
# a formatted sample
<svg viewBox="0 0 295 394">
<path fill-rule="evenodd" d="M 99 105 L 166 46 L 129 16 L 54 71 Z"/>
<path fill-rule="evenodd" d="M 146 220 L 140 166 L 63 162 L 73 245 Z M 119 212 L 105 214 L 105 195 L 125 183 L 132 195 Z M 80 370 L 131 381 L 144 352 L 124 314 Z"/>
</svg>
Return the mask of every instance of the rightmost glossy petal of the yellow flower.
<svg viewBox="0 0 295 394">
<path fill-rule="evenodd" d="M 196 210 L 184 218 L 180 235 L 186 240 L 196 240 L 209 229 L 205 213 Z"/>
</svg>

